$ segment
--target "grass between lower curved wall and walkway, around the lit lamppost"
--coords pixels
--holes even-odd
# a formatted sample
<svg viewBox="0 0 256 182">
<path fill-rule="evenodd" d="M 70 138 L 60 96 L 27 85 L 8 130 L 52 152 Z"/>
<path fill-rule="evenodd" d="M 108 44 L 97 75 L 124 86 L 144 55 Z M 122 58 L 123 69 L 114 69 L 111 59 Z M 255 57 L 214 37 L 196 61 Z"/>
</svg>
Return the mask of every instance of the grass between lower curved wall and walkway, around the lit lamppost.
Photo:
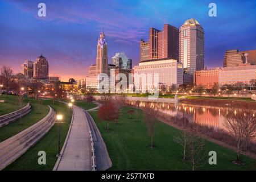
<svg viewBox="0 0 256 182">
<path fill-rule="evenodd" d="M 44 101 L 45 104 L 50 105 L 58 114 L 63 114 L 63 121 L 61 123 L 61 148 L 64 144 L 65 138 L 68 133 L 69 123 L 70 123 L 70 110 L 67 105 L 60 102 L 55 102 L 51 104 L 51 101 Z M 10 164 L 5 168 L 5 170 L 52 170 L 57 158 L 58 153 L 58 125 L 55 123 L 51 130 L 38 142 L 35 146 L 31 147 L 25 154 L 20 156 L 14 163 Z M 46 152 L 46 165 L 38 164 L 38 152 Z"/>
</svg>

